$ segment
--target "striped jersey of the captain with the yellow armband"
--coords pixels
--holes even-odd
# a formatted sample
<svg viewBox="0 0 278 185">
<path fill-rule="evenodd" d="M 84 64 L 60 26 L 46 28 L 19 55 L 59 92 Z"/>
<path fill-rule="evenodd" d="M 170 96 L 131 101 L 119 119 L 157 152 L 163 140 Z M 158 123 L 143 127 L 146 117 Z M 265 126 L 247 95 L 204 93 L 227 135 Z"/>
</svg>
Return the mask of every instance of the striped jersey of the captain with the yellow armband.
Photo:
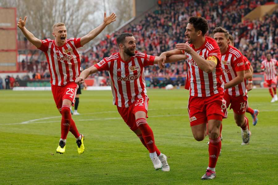
<svg viewBox="0 0 278 185">
<path fill-rule="evenodd" d="M 209 97 L 213 94 L 223 92 L 224 82 L 222 80 L 222 69 L 220 64 L 221 52 L 215 40 L 210 37 L 205 37 L 205 43 L 200 48 L 195 49 L 193 44 L 190 44 L 189 46 L 205 60 L 209 56 L 215 56 L 218 59 L 216 68 L 213 69 L 212 72 L 206 73 L 199 69 L 190 54 L 185 53 L 187 56 L 187 82 L 190 83 L 188 84 L 190 96 Z"/>
</svg>

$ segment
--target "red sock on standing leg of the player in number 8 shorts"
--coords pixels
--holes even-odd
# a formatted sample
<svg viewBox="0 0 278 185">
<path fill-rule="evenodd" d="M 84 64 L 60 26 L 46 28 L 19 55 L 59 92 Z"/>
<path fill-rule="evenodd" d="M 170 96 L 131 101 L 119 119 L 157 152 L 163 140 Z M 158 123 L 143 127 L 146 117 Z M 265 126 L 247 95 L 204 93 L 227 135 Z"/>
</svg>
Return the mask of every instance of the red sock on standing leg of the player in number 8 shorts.
<svg viewBox="0 0 278 185">
<path fill-rule="evenodd" d="M 221 139 L 218 137 L 217 139 L 210 139 L 209 138 L 209 145 L 208 145 L 208 167 L 215 168 L 218 156 L 221 150 Z M 215 171 L 215 169 L 213 170 Z"/>
</svg>

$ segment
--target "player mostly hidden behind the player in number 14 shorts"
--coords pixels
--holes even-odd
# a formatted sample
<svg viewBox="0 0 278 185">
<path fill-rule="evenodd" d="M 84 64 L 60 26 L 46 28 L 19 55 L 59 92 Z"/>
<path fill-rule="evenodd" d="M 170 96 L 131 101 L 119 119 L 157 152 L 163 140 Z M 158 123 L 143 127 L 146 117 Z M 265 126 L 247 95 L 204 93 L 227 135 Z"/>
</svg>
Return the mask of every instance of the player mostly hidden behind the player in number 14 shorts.
<svg viewBox="0 0 278 185">
<path fill-rule="evenodd" d="M 229 34 L 229 40 L 227 40 L 228 44 L 233 46 L 234 47 L 234 37 L 232 35 Z M 243 59 L 245 59 L 245 61 L 248 63 L 248 66 L 251 70 L 251 73 L 252 73 L 252 76 L 253 76 L 253 67 L 250 63 L 250 61 L 247 59 L 247 57 L 245 57 L 244 55 L 243 56 Z M 253 88 L 253 81 L 252 81 L 252 77 L 248 79 L 248 84 L 247 84 L 247 91 L 251 91 Z M 258 115 L 259 115 L 259 110 L 257 109 L 252 109 L 249 104 L 248 104 L 248 100 L 247 100 L 247 105 L 246 105 L 246 112 L 247 113 L 250 113 L 251 114 L 251 117 L 253 119 L 253 125 L 255 126 L 258 122 Z M 248 124 L 249 125 L 249 124 Z M 249 126 L 248 126 L 248 129 L 249 129 Z M 249 130 L 250 132 L 250 130 Z M 251 133 L 250 133 L 251 134 Z"/>
</svg>

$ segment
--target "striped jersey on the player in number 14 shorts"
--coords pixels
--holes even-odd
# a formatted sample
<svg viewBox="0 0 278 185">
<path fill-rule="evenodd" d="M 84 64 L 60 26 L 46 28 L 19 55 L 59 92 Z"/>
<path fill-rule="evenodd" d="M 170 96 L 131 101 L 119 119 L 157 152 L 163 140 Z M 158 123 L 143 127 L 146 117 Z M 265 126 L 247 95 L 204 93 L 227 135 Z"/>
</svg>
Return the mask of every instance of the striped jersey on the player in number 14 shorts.
<svg viewBox="0 0 278 185">
<path fill-rule="evenodd" d="M 241 52 L 235 47 L 229 45 L 227 51 L 221 58 L 221 67 L 223 70 L 222 76 L 225 84 L 237 77 L 238 71 L 245 71 L 245 66 L 247 67 L 248 63 L 243 59 Z M 247 95 L 246 79 L 234 87 L 225 89 L 225 91 L 228 91 L 229 95 L 233 97 Z"/>
</svg>

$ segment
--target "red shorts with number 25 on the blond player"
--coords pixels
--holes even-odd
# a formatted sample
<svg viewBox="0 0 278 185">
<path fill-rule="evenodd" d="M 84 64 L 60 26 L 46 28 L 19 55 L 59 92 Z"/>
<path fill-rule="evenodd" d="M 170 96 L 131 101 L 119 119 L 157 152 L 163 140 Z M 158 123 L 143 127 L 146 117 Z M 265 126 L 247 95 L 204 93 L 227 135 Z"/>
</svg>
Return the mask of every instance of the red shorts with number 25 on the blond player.
<svg viewBox="0 0 278 185">
<path fill-rule="evenodd" d="M 64 86 L 51 85 L 54 101 L 59 111 L 61 111 L 64 99 L 70 100 L 72 105 L 74 105 L 78 87 L 79 86 L 75 82 L 70 82 Z"/>
</svg>

